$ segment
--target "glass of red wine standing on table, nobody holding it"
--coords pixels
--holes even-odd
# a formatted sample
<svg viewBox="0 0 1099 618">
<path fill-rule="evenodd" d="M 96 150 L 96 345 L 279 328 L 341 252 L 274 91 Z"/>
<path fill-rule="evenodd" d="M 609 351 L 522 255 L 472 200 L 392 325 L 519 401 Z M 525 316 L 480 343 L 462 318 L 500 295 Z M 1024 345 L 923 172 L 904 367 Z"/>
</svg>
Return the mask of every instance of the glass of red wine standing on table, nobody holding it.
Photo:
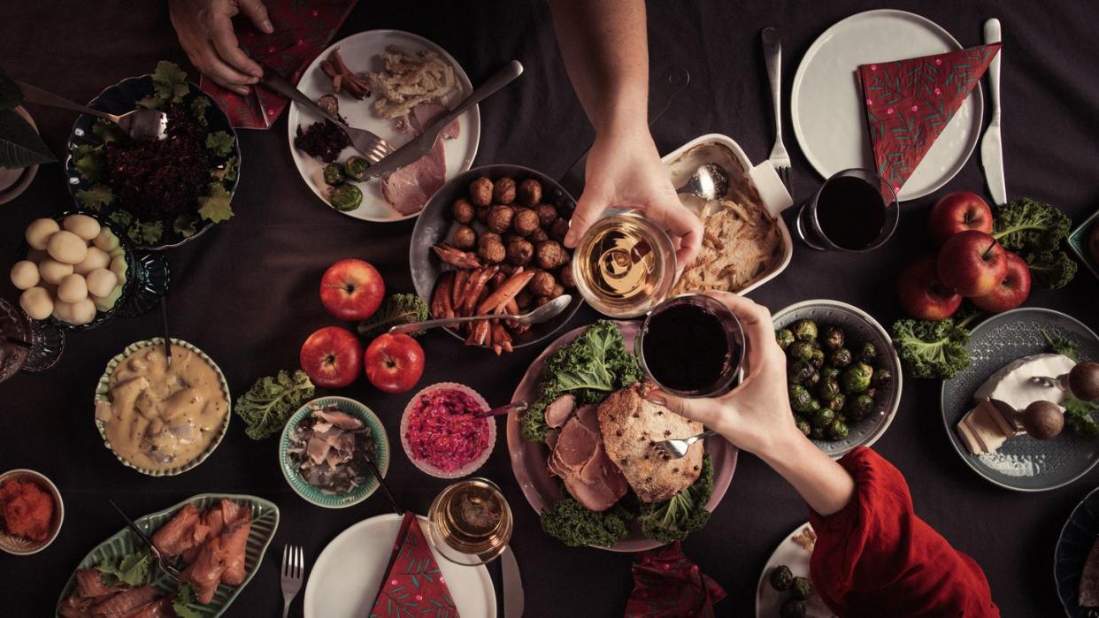
<svg viewBox="0 0 1099 618">
<path fill-rule="evenodd" d="M 900 207 L 892 187 L 866 169 L 833 175 L 798 212 L 798 236 L 818 250 L 869 251 L 897 229 Z"/>
</svg>

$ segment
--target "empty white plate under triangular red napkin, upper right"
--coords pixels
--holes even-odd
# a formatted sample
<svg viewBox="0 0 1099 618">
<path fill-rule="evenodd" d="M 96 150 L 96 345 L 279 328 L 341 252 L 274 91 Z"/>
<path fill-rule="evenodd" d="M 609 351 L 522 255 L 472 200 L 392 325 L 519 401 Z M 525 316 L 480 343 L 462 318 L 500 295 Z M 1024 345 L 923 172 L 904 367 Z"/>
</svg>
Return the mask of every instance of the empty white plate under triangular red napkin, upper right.
<svg viewBox="0 0 1099 618">
<path fill-rule="evenodd" d="M 891 9 L 856 13 L 824 31 L 801 59 L 790 94 L 793 133 L 810 165 L 824 178 L 877 168 L 855 77 L 859 65 L 961 48 L 939 24 Z M 983 113 L 978 83 L 901 187 L 900 201 L 933 193 L 962 170 L 980 138 Z"/>
</svg>

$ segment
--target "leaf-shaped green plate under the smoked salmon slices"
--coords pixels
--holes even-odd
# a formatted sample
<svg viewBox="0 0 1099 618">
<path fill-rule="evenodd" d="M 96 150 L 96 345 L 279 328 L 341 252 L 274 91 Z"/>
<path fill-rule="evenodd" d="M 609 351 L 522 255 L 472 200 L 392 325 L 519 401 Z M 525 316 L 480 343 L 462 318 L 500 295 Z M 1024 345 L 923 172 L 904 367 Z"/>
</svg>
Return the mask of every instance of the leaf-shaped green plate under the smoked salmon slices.
<svg viewBox="0 0 1099 618">
<path fill-rule="evenodd" d="M 270 544 L 271 539 L 275 538 L 275 530 L 278 529 L 279 515 L 278 507 L 275 506 L 275 503 L 249 495 L 199 494 L 164 510 L 151 513 L 134 520 L 134 523 L 137 524 L 137 526 L 140 526 L 146 535 L 152 536 L 154 531 L 156 531 L 160 526 L 167 524 L 168 520 L 171 519 L 171 516 L 187 504 L 193 504 L 196 508 L 204 509 L 213 506 L 221 498 L 229 498 L 240 503 L 242 506 L 247 505 L 252 508 L 252 530 L 248 532 L 248 543 L 244 550 L 244 564 L 247 569 L 247 575 L 244 577 L 244 583 L 240 586 L 220 584 L 218 586 L 218 592 L 213 595 L 213 602 L 211 602 L 210 605 L 190 606 L 203 616 L 211 617 L 221 616 L 233 603 L 233 599 L 236 598 L 236 595 L 241 594 L 244 586 L 248 585 L 248 582 L 252 581 L 253 575 L 255 575 L 256 571 L 259 569 L 259 564 L 264 560 L 264 553 L 267 551 L 267 546 Z M 99 543 L 96 549 L 91 550 L 88 555 L 84 557 L 84 560 L 80 561 L 77 569 L 96 566 L 104 560 L 118 559 L 121 555 L 133 553 L 144 547 L 144 543 L 137 539 L 136 535 L 134 535 L 129 528 L 123 528 L 113 537 Z M 151 583 L 153 585 L 168 594 L 175 592 L 176 584 L 168 575 L 156 568 L 151 570 L 151 574 L 153 577 Z M 62 588 L 62 595 L 58 597 L 57 603 L 60 604 L 60 602 L 68 598 L 69 595 L 73 594 L 75 587 L 76 573 L 74 572 L 73 575 L 69 576 L 68 582 L 65 583 L 65 587 Z"/>
</svg>

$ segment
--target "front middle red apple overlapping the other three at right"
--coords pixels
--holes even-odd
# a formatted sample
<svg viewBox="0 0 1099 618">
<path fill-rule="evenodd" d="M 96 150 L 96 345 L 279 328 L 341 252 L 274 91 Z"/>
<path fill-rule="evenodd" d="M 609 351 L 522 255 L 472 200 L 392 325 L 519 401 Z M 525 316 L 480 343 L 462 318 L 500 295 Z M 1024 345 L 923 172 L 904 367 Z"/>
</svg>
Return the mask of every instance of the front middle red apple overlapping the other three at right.
<svg viewBox="0 0 1099 618">
<path fill-rule="evenodd" d="M 939 250 L 935 271 L 939 280 L 963 296 L 984 296 L 1003 281 L 1007 254 L 996 238 L 967 229 L 946 239 Z"/>
</svg>

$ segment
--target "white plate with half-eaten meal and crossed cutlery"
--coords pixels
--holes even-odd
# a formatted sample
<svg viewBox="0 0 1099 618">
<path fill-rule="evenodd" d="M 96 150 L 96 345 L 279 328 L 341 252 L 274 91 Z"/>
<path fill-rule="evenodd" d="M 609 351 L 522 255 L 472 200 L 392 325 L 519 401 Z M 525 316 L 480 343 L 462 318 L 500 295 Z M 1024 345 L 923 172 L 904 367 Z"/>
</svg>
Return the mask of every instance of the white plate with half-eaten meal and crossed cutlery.
<svg viewBox="0 0 1099 618">
<path fill-rule="evenodd" d="M 301 90 L 314 101 L 323 94 L 332 93 L 332 79 L 321 70 L 321 60 L 328 59 L 333 48 L 340 48 L 340 56 L 351 70 L 362 74 L 381 70 L 381 59 L 378 57 L 378 54 L 390 45 L 397 45 L 413 52 L 433 49 L 439 52 L 454 67 L 454 77 L 457 79 L 458 89 L 452 92 L 449 98 L 443 102 L 446 106 L 453 108 L 473 92 L 473 85 L 469 82 L 466 71 L 445 49 L 422 36 L 399 30 L 368 30 L 333 43 L 302 72 L 301 80 L 298 82 L 298 90 Z M 409 133 L 398 132 L 393 127 L 392 120 L 384 119 L 375 113 L 374 97 L 366 97 L 359 101 L 349 94 L 341 92 L 338 98 L 340 115 L 344 116 L 351 126 L 371 131 L 386 142 L 389 142 L 395 148 L 402 146 L 412 138 L 412 135 Z M 325 207 L 331 207 L 326 195 L 328 186 L 324 183 L 323 178 L 325 164 L 293 147 L 293 138 L 297 136 L 298 125 L 301 125 L 302 130 L 304 130 L 319 120 L 321 119 L 312 112 L 306 111 L 297 103 L 291 102 L 287 119 L 287 138 L 290 143 L 290 156 L 293 157 L 293 162 L 298 166 L 298 173 L 301 175 L 306 184 L 313 190 L 313 193 L 324 202 Z M 480 142 L 480 111 L 477 105 L 474 105 L 469 111 L 458 116 L 458 122 L 462 124 L 458 137 L 443 141 L 443 150 L 446 154 L 446 180 L 454 178 L 473 166 L 474 158 L 477 156 L 477 145 Z M 348 146 L 340 154 L 337 160 L 344 161 L 347 157 L 358 154 L 354 148 Z M 418 212 L 410 215 L 402 215 L 397 212 L 381 196 L 380 182 L 379 179 L 357 182 L 358 188 L 363 190 L 363 204 L 343 214 L 363 221 L 384 223 L 403 221 L 420 214 Z"/>
</svg>

